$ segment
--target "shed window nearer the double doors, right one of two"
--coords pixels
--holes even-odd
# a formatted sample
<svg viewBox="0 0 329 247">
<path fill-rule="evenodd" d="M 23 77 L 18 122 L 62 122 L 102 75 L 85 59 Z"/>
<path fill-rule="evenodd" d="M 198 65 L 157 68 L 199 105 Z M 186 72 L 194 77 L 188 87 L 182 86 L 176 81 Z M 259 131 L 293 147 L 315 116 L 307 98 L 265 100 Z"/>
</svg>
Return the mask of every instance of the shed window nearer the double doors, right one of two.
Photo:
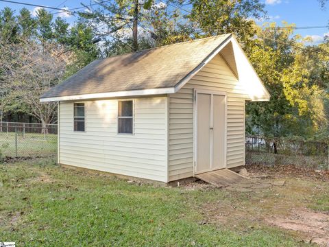
<svg viewBox="0 0 329 247">
<path fill-rule="evenodd" d="M 118 133 L 132 134 L 134 126 L 134 102 L 119 100 L 118 102 Z"/>
</svg>

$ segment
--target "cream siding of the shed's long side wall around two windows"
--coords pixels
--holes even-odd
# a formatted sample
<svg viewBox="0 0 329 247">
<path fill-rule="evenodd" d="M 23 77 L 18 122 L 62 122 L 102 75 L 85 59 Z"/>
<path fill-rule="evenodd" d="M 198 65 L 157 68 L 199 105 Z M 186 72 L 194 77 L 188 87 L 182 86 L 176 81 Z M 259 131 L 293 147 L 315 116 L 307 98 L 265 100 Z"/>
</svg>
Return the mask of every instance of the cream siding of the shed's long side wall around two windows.
<svg viewBox="0 0 329 247">
<path fill-rule="evenodd" d="M 167 182 L 167 97 L 134 99 L 134 134 L 118 134 L 118 100 L 86 102 L 86 132 L 73 102 L 60 103 L 59 163 Z"/>
</svg>

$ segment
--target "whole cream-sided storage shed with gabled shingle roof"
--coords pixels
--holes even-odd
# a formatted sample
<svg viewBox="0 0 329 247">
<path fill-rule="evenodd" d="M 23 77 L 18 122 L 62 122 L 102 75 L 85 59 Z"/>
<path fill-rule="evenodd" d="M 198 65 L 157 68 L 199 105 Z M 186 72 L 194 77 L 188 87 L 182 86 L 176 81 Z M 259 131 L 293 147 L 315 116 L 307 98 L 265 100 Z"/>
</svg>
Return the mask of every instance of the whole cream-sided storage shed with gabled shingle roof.
<svg viewBox="0 0 329 247">
<path fill-rule="evenodd" d="M 245 164 L 245 101 L 269 93 L 232 34 L 95 60 L 58 102 L 58 163 L 168 183 Z"/>
</svg>

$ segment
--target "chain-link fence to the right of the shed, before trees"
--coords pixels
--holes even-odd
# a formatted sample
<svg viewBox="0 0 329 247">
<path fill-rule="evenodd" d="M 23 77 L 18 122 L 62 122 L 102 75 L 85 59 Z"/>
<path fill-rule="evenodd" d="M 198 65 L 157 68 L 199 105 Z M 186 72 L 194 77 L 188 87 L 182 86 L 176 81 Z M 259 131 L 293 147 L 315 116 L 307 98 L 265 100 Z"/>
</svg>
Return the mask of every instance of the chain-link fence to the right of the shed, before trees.
<svg viewBox="0 0 329 247">
<path fill-rule="evenodd" d="M 246 136 L 246 165 L 297 165 L 329 169 L 328 142 Z"/>
</svg>

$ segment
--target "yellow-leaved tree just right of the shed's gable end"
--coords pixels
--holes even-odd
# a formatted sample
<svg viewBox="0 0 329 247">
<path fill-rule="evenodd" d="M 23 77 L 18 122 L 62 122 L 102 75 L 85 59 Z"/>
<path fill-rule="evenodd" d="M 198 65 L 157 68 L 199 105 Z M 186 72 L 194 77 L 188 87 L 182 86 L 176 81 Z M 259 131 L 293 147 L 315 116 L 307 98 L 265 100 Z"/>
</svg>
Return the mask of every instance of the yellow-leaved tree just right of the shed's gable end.
<svg viewBox="0 0 329 247">
<path fill-rule="evenodd" d="M 293 36 L 294 25 L 284 26 L 287 30 L 277 30 L 275 23 L 258 30 L 259 39 L 249 50 L 271 100 L 247 104 L 247 131 L 267 137 L 310 138 L 320 122 L 328 121 L 324 107 L 328 80 L 315 80 L 319 71 L 314 53 L 304 47 L 300 36 Z"/>
</svg>

